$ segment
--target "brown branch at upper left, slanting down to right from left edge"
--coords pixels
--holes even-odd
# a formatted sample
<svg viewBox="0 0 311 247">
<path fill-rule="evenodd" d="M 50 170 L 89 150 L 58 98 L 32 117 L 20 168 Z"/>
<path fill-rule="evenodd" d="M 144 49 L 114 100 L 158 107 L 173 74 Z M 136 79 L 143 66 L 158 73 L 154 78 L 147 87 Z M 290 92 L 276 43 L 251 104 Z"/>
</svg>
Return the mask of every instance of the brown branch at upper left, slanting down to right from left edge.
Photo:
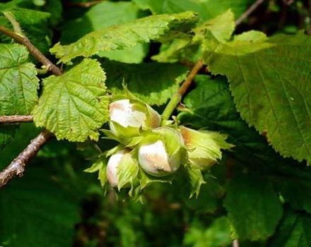
<svg viewBox="0 0 311 247">
<path fill-rule="evenodd" d="M 4 28 L 4 26 L 0 25 L 0 32 L 4 33 L 8 37 L 11 37 L 13 40 L 18 42 L 19 44 L 25 45 L 27 47 L 30 54 L 32 54 L 37 61 L 40 61 L 41 64 L 45 65 L 47 67 L 48 71 L 51 71 L 54 73 L 54 75 L 61 76 L 63 72 L 60 68 L 58 68 L 56 65 L 52 63 L 52 61 L 49 61 L 45 55 L 43 55 L 37 47 L 35 47 L 33 44 L 31 44 L 30 40 L 28 40 L 28 37 L 23 37 L 21 35 L 18 35 L 16 32 L 13 32 L 9 30 L 8 28 Z"/>
</svg>

